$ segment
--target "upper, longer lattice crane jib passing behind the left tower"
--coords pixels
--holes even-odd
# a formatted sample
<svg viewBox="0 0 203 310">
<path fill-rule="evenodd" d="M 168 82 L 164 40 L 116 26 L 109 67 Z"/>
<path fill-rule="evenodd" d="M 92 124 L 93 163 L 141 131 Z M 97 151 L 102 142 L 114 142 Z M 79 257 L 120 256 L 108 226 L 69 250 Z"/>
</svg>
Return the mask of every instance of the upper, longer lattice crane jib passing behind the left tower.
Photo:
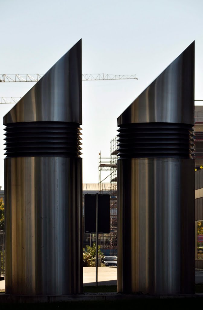
<svg viewBox="0 0 203 310">
<path fill-rule="evenodd" d="M 38 82 L 44 74 L 0 74 L 0 82 Z M 130 80 L 137 79 L 136 74 L 117 75 L 107 73 L 82 74 L 82 81 Z"/>
</svg>

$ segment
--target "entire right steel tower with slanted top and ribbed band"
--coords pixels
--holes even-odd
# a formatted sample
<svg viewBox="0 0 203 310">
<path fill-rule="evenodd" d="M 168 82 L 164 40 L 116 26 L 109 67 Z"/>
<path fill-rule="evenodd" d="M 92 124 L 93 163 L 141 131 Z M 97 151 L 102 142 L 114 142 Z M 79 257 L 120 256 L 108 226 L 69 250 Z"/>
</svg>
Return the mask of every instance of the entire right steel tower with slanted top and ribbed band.
<svg viewBox="0 0 203 310">
<path fill-rule="evenodd" d="M 194 42 L 121 114 L 118 292 L 191 294 Z"/>
</svg>

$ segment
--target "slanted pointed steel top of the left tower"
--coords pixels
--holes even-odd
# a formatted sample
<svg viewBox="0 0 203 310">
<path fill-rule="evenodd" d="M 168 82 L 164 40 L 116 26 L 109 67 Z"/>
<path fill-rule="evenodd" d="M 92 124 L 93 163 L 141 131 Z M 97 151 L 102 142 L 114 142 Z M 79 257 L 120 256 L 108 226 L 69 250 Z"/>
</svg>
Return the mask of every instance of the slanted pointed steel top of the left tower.
<svg viewBox="0 0 203 310">
<path fill-rule="evenodd" d="M 80 39 L 3 117 L 16 122 L 82 124 L 82 40 Z"/>
</svg>

